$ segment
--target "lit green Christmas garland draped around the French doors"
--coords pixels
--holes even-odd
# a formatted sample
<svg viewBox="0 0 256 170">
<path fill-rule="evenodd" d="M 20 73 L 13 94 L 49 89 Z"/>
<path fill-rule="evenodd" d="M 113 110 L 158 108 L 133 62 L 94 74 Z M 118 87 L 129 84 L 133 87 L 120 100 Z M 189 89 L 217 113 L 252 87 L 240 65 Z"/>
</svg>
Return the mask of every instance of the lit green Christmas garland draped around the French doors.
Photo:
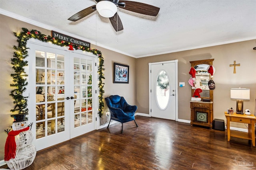
<svg viewBox="0 0 256 170">
<path fill-rule="evenodd" d="M 10 84 L 11 87 L 14 89 L 11 90 L 10 96 L 14 99 L 14 109 L 11 109 L 10 111 L 18 112 L 18 114 L 28 114 L 28 104 L 27 100 L 28 97 L 22 96 L 23 92 L 26 90 L 26 86 L 28 85 L 26 77 L 28 74 L 24 71 L 24 67 L 28 66 L 28 61 L 24 61 L 26 57 L 28 57 L 28 51 L 27 51 L 27 41 L 30 38 L 38 39 L 42 42 L 50 42 L 55 45 L 59 45 L 61 47 L 63 46 L 68 46 L 69 50 L 82 50 L 82 51 L 87 51 L 90 53 L 93 53 L 94 55 L 98 56 L 99 59 L 99 66 L 98 66 L 98 74 L 99 74 L 99 108 L 98 108 L 98 114 L 101 117 L 103 115 L 103 108 L 104 108 L 104 103 L 103 103 L 103 94 L 104 94 L 104 83 L 102 82 L 102 79 L 104 78 L 103 71 L 105 70 L 103 68 L 104 64 L 104 59 L 102 57 L 102 53 L 98 51 L 97 49 L 90 49 L 88 47 L 83 47 L 82 45 L 75 45 L 72 43 L 68 43 L 66 41 L 62 41 L 60 39 L 50 37 L 50 35 L 44 35 L 40 31 L 37 31 L 35 29 L 32 29 L 31 31 L 28 31 L 26 28 L 22 28 L 23 32 L 20 33 L 15 33 L 14 35 L 18 38 L 18 46 L 14 45 L 14 49 L 16 50 L 14 52 L 13 58 L 11 59 L 11 64 L 13 65 L 12 68 L 14 69 L 14 73 L 11 74 L 13 78 L 13 83 Z"/>
</svg>

